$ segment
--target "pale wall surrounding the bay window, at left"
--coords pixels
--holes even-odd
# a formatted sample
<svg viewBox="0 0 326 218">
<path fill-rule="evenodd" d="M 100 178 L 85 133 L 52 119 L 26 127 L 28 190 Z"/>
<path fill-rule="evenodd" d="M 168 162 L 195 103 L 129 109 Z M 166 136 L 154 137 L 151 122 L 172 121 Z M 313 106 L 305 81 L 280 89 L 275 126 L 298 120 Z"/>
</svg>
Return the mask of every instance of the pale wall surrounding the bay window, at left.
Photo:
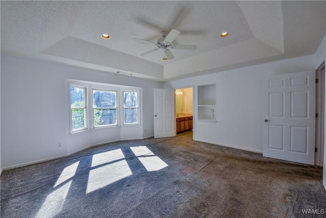
<svg viewBox="0 0 326 218">
<path fill-rule="evenodd" d="M 162 88 L 161 82 L 11 56 L 1 59 L 4 169 L 65 156 L 93 144 L 154 135 L 153 88 Z M 141 87 L 142 124 L 70 134 L 67 79 Z"/>
</svg>

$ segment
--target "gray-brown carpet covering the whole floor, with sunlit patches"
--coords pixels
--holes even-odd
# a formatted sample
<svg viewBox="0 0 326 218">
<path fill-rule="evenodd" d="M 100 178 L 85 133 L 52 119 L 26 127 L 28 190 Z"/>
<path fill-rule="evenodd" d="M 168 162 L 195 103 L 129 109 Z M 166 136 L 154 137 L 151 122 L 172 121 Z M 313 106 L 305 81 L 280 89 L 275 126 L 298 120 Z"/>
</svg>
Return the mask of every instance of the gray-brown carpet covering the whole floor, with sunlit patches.
<svg viewBox="0 0 326 218">
<path fill-rule="evenodd" d="M 1 217 L 325 217 L 321 179 L 321 167 L 185 132 L 4 171 Z"/>
</svg>

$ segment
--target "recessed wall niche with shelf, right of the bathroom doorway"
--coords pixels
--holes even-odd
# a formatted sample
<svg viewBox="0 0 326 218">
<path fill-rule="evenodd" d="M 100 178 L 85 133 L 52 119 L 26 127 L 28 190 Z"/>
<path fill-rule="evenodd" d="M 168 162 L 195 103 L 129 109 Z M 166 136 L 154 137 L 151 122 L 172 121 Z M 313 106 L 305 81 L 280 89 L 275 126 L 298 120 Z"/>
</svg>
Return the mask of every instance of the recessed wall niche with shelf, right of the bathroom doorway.
<svg viewBox="0 0 326 218">
<path fill-rule="evenodd" d="M 216 84 L 198 86 L 198 120 L 216 122 Z"/>
</svg>

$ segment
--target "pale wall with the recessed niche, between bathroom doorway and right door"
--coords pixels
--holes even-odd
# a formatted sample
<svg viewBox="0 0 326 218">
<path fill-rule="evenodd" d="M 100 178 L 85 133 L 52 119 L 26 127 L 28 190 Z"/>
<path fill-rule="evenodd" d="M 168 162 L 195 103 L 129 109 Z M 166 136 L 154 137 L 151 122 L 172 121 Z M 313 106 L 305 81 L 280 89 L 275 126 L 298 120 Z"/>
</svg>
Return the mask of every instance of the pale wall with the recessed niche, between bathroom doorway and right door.
<svg viewBox="0 0 326 218">
<path fill-rule="evenodd" d="M 273 74 L 315 69 L 315 56 L 259 64 L 165 82 L 165 88 L 194 85 L 194 140 L 262 152 L 263 82 Z M 216 123 L 197 120 L 197 86 L 216 83 Z"/>
</svg>

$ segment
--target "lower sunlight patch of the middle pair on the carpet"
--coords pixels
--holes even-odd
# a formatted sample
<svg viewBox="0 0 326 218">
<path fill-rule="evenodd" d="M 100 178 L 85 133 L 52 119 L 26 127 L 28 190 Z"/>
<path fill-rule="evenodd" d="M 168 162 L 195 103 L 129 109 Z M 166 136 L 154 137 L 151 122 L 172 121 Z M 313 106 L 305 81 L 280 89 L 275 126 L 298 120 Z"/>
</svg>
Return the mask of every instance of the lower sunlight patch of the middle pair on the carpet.
<svg viewBox="0 0 326 218">
<path fill-rule="evenodd" d="M 128 176 L 132 172 L 126 160 L 120 160 L 95 169 L 91 169 L 86 193 L 103 188 Z"/>
</svg>

